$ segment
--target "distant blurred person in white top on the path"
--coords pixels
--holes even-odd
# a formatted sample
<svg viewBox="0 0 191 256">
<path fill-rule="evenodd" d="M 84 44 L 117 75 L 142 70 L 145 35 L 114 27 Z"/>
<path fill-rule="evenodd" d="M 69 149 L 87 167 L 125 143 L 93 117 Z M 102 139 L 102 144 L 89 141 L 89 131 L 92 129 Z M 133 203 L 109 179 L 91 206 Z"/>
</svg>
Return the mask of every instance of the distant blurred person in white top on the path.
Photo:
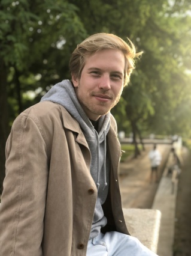
<svg viewBox="0 0 191 256">
<path fill-rule="evenodd" d="M 150 150 L 148 157 L 151 162 L 150 182 L 153 181 L 154 176 L 155 176 L 154 181 L 157 182 L 158 181 L 157 171 L 158 171 L 158 166 L 160 165 L 162 157 L 159 150 L 156 149 L 156 144 L 153 145 L 153 149 Z"/>
</svg>

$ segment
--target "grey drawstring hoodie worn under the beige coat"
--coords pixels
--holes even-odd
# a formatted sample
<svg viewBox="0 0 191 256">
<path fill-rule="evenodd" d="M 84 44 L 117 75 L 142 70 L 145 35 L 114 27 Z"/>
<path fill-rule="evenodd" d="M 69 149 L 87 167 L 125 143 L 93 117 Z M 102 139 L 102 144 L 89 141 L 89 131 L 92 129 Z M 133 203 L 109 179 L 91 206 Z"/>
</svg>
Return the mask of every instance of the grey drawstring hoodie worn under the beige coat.
<svg viewBox="0 0 191 256">
<path fill-rule="evenodd" d="M 107 154 L 106 144 L 106 136 L 110 129 L 110 113 L 99 118 L 98 132 L 96 132 L 91 121 L 81 108 L 74 87 L 69 80 L 63 80 L 54 85 L 43 96 L 41 101 L 43 100 L 49 100 L 62 105 L 78 121 L 89 145 L 91 153 L 90 173 L 98 189 L 98 198 L 89 237 L 92 239 L 98 236 L 101 227 L 107 224 L 107 218 L 104 216 L 102 204 L 104 204 L 107 198 L 110 177 L 110 160 Z"/>
</svg>

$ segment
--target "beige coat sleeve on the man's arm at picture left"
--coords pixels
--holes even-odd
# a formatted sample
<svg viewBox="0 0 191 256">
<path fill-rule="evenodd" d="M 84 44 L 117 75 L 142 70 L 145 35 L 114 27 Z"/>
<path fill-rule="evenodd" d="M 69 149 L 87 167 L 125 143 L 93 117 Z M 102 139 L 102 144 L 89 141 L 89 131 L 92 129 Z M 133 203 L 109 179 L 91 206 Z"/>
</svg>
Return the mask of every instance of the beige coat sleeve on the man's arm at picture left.
<svg viewBox="0 0 191 256">
<path fill-rule="evenodd" d="M 48 160 L 38 123 L 28 115 L 17 117 L 5 151 L 0 255 L 41 256 Z"/>
</svg>

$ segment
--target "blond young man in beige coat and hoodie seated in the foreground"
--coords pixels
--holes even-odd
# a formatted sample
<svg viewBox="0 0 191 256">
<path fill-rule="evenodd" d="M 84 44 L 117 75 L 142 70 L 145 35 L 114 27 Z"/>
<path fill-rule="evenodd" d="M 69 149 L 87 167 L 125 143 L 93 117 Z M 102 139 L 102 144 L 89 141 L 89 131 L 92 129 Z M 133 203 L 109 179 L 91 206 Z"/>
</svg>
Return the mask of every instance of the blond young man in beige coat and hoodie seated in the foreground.
<svg viewBox="0 0 191 256">
<path fill-rule="evenodd" d="M 129 81 L 135 53 L 95 34 L 71 56 L 62 81 L 14 121 L 6 147 L 0 255 L 156 255 L 129 236 L 110 109 Z"/>
</svg>

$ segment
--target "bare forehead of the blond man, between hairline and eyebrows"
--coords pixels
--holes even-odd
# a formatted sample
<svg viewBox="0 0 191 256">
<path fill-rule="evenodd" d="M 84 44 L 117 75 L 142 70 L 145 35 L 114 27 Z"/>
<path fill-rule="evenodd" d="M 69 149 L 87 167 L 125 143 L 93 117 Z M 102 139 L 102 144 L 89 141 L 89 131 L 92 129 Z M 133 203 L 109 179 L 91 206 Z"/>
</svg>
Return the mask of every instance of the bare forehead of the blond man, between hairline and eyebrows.
<svg viewBox="0 0 191 256">
<path fill-rule="evenodd" d="M 114 70 L 120 70 L 124 72 L 125 68 L 125 56 L 123 52 L 117 49 L 103 49 L 87 56 L 85 59 L 86 68 L 99 67 L 110 68 Z"/>
</svg>

